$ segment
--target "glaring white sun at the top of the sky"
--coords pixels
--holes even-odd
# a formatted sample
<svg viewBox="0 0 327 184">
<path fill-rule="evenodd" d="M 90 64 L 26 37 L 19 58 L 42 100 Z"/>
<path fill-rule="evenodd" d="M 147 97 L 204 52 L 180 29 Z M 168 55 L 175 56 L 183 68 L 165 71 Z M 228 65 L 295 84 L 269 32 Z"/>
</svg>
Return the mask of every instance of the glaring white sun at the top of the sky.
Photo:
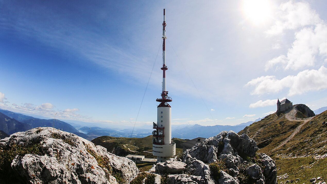
<svg viewBox="0 0 327 184">
<path fill-rule="evenodd" d="M 253 24 L 263 24 L 271 17 L 271 4 L 267 0 L 244 0 L 243 13 Z"/>
</svg>

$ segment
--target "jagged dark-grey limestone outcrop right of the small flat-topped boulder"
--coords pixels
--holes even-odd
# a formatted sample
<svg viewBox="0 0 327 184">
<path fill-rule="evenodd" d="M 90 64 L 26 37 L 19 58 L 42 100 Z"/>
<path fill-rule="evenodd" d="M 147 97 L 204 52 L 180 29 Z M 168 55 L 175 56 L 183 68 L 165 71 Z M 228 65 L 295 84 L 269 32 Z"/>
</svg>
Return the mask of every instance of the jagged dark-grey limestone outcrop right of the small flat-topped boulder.
<svg viewBox="0 0 327 184">
<path fill-rule="evenodd" d="M 258 150 L 256 142 L 248 135 L 240 136 L 233 131 L 223 131 L 217 136 L 208 138 L 187 149 L 183 154 L 182 161 L 187 164 L 187 171 L 191 175 L 201 176 L 205 183 L 214 183 L 213 178 L 217 178 L 213 175 L 218 171 L 211 171 L 209 163 L 223 160 L 228 173 L 225 171 L 218 172 L 220 175 L 219 183 L 239 183 L 237 177 L 241 172 L 252 177 L 252 180 L 255 180 L 257 184 L 265 182 L 276 184 L 275 162 L 265 154 L 256 155 Z M 255 157 L 260 157 L 260 161 Z M 260 168 L 259 164 L 253 163 L 255 161 L 261 162 L 260 165 L 263 167 Z M 241 167 L 241 165 L 243 166 Z M 244 165 L 246 168 L 240 170 L 240 168 L 244 168 Z"/>
</svg>

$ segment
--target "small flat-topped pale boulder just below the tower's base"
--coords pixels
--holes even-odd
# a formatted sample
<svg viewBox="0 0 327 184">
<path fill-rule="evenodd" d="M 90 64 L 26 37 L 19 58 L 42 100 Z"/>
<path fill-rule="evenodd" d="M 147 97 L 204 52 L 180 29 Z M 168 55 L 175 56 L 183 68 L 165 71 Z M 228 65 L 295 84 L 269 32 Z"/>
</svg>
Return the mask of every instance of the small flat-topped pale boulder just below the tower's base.
<svg viewBox="0 0 327 184">
<path fill-rule="evenodd" d="M 186 164 L 180 161 L 167 160 L 156 165 L 156 172 L 165 174 L 175 174 L 186 170 Z"/>
</svg>

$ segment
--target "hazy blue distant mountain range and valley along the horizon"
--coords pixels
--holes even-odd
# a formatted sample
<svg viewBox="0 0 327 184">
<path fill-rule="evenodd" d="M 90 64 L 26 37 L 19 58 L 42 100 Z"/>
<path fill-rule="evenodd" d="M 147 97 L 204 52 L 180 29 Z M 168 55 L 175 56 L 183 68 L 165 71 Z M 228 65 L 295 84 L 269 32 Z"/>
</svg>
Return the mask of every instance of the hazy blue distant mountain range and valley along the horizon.
<svg viewBox="0 0 327 184">
<path fill-rule="evenodd" d="M 12 134 L 18 131 L 26 131 L 35 127 L 55 127 L 57 129 L 74 133 L 82 138 L 93 140 L 100 136 L 112 136 L 112 137 L 132 137 L 142 138 L 151 135 L 152 126 L 142 126 L 135 128 L 134 131 L 131 128 L 103 128 L 97 126 L 85 126 L 92 125 L 86 122 L 64 122 L 53 119 L 40 119 L 32 116 L 11 112 L 9 110 L 0 109 L 0 113 L 8 116 L 0 118 L 0 130 L 3 130 L 7 134 Z M 172 125 L 172 137 L 181 139 L 194 139 L 196 137 L 212 137 L 217 135 L 220 131 L 233 130 L 239 132 L 246 126 L 251 125 L 253 122 L 259 121 L 261 118 L 255 121 L 249 121 L 239 125 L 215 125 L 215 126 L 202 126 L 202 125 Z M 12 125 L 12 126 L 10 126 Z M 83 126 L 84 125 L 84 126 Z M 133 134 L 132 134 L 133 131 Z"/>
</svg>

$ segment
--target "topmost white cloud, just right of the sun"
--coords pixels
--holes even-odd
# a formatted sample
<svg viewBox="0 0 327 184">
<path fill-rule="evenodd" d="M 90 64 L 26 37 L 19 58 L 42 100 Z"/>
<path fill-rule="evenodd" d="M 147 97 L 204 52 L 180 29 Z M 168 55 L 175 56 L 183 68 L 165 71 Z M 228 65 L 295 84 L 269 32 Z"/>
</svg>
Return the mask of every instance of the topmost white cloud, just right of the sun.
<svg viewBox="0 0 327 184">
<path fill-rule="evenodd" d="M 275 24 L 266 32 L 268 35 L 281 34 L 285 29 L 297 29 L 322 22 L 308 3 L 288 1 L 282 3 L 279 10 L 275 15 Z"/>
</svg>

